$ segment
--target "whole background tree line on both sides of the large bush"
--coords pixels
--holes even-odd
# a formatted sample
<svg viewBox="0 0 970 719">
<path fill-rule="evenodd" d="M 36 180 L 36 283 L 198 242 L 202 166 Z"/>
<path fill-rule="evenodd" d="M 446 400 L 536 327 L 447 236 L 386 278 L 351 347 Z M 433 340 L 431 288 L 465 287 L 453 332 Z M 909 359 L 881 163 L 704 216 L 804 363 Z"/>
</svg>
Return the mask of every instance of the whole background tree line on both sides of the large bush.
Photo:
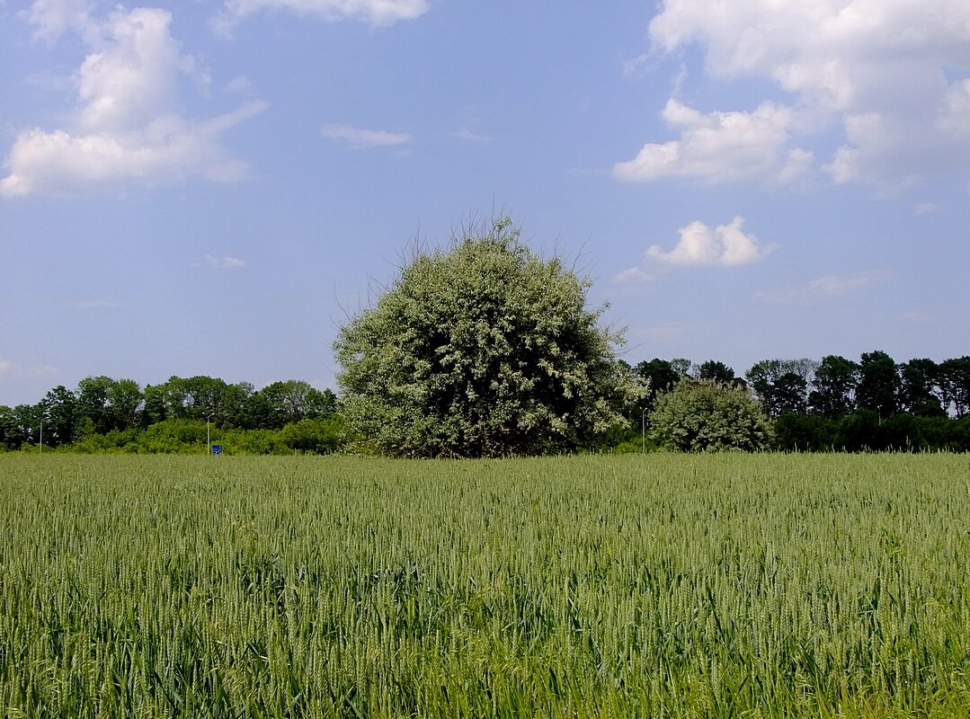
<svg viewBox="0 0 970 719">
<path fill-rule="evenodd" d="M 756 363 L 743 376 L 716 360 L 695 364 L 654 358 L 620 364 L 646 391 L 637 401 L 627 401 L 622 412 L 626 426 L 576 448 L 635 450 L 648 442 L 661 444 L 675 405 L 655 413 L 658 401 L 687 381 L 740 388 L 757 401 L 771 420 L 770 440 L 760 444 L 764 447 L 970 450 L 967 356 L 897 363 L 875 350 L 858 361 L 839 355 L 821 361 L 773 359 Z M 662 422 L 666 428 L 659 426 Z M 339 449 L 350 438 L 338 395 L 303 380 L 256 390 L 249 382 L 173 376 L 143 388 L 133 379 L 90 376 L 73 390 L 52 388 L 36 405 L 0 406 L 0 448 L 37 446 L 43 440 L 45 447 L 70 445 L 81 451 L 198 451 L 207 425 L 219 433 L 220 442 L 246 453 L 322 453 Z M 727 437 L 737 437 L 733 430 Z M 738 445 L 748 446 L 744 441 Z"/>
</svg>

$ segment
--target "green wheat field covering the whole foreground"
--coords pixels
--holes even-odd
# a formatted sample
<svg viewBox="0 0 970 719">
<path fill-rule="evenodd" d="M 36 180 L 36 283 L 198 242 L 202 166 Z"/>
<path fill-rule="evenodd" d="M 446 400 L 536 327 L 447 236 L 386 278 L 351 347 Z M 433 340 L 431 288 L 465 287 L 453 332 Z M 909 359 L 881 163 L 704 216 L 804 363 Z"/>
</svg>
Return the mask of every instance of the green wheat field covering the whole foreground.
<svg viewBox="0 0 970 719">
<path fill-rule="evenodd" d="M 966 455 L 0 455 L 0 716 L 944 717 Z"/>
</svg>

